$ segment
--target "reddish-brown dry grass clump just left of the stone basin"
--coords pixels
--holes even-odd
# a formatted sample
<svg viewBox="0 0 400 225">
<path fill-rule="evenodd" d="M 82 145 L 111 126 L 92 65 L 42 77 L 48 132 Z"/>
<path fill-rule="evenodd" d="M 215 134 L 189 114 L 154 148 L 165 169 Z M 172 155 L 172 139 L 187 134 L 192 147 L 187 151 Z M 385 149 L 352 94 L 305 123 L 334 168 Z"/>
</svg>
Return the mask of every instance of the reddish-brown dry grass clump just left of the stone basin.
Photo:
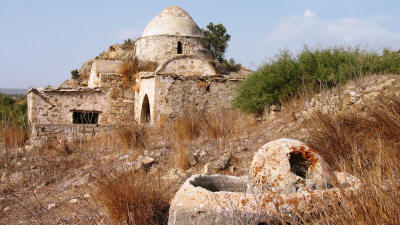
<svg viewBox="0 0 400 225">
<path fill-rule="evenodd" d="M 169 186 L 143 171 L 105 171 L 98 179 L 94 197 L 113 224 L 167 224 Z"/>
</svg>

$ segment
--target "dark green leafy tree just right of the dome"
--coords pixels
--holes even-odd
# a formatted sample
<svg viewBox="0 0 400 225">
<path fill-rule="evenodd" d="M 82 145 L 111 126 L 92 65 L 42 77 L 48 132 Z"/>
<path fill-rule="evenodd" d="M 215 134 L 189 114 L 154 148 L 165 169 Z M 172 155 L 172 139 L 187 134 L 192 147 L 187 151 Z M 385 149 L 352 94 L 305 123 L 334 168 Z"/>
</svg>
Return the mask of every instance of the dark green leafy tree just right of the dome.
<svg viewBox="0 0 400 225">
<path fill-rule="evenodd" d="M 228 48 L 228 41 L 231 39 L 231 36 L 226 33 L 225 26 L 210 22 L 207 25 L 207 29 L 202 29 L 202 31 L 204 37 L 210 42 L 211 52 L 222 62 Z"/>
</svg>

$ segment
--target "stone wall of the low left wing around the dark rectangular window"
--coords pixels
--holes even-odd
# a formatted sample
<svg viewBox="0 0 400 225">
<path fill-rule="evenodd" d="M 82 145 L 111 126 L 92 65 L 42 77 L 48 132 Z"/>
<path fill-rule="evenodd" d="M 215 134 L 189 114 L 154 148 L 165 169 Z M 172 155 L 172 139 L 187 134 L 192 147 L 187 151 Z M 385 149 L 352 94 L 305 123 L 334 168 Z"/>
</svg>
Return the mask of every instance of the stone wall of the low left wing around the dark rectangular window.
<svg viewBox="0 0 400 225">
<path fill-rule="evenodd" d="M 30 89 L 27 96 L 30 124 L 72 124 L 74 111 L 99 112 L 99 124 L 132 123 L 135 92 L 130 82 L 121 75 L 101 74 L 100 86 Z"/>
</svg>

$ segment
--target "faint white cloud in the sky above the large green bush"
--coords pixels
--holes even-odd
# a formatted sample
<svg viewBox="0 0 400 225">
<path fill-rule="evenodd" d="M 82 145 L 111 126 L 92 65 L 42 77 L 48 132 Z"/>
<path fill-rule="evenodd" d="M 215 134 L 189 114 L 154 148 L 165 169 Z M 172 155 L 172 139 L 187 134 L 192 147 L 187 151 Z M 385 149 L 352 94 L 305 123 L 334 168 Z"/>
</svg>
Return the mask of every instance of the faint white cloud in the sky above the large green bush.
<svg viewBox="0 0 400 225">
<path fill-rule="evenodd" d="M 268 45 L 296 51 L 304 44 L 311 47 L 359 46 L 372 49 L 400 48 L 400 33 L 384 28 L 381 23 L 393 19 L 388 16 L 367 18 L 339 18 L 324 20 L 310 9 L 302 16 L 282 18 L 267 35 Z"/>
</svg>

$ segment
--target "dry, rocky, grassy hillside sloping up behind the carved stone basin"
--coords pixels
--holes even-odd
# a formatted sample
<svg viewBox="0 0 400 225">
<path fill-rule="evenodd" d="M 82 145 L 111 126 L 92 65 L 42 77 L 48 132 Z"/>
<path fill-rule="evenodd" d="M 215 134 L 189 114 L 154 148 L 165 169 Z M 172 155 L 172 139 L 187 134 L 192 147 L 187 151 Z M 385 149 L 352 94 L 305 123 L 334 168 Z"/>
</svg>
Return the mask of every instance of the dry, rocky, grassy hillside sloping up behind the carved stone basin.
<svg viewBox="0 0 400 225">
<path fill-rule="evenodd" d="M 11 150 L 7 147 L 1 152 L 4 166 L 0 167 L 0 223 L 108 224 L 121 219 L 122 215 L 118 213 L 125 212 L 124 206 L 115 205 L 121 199 L 128 199 L 127 203 L 129 199 L 157 201 L 160 207 L 168 207 L 169 199 L 190 175 L 205 171 L 208 174 L 246 175 L 254 153 L 265 143 L 281 137 L 312 145 L 332 167 L 350 172 L 368 183 L 392 182 L 392 175 L 399 174 L 398 155 L 388 154 L 393 154 L 398 143 L 399 136 L 395 131 L 400 114 L 397 109 L 391 111 L 385 107 L 399 104 L 397 98 L 389 98 L 399 96 L 399 87 L 398 75 L 374 75 L 320 94 L 287 101 L 282 107 L 271 107 L 261 118 L 223 109 L 205 115 L 191 112 L 174 122 L 166 121 L 153 128 L 121 130 L 100 140 L 46 143 L 41 149 L 20 147 Z M 377 108 L 377 105 L 381 107 Z M 373 121 L 380 125 L 373 125 Z M 388 124 L 391 127 L 385 128 Z M 375 142 L 377 136 L 374 136 L 379 132 L 373 130 L 383 132 L 379 142 Z M 386 130 L 392 132 L 387 134 Z M 368 138 L 373 142 L 364 141 Z M 354 155 L 357 153 L 355 147 L 371 149 L 376 148 L 376 144 L 392 146 L 380 156 L 392 160 L 385 161 L 384 165 L 376 164 L 378 161 L 371 161 L 379 153 L 375 150 L 364 152 L 362 158 Z M 358 164 L 349 163 L 354 160 L 358 160 Z M 364 170 L 366 162 L 369 172 Z M 387 174 L 376 177 L 374 173 L 381 166 L 385 166 Z M 139 172 L 120 175 L 131 169 Z M 369 180 L 372 176 L 375 181 Z M 141 182 L 132 182 L 135 180 Z M 397 188 L 395 183 L 390 187 Z M 116 192 L 118 188 L 128 188 L 129 193 Z M 366 188 L 375 191 L 375 198 L 363 194 L 363 198 L 353 200 L 357 200 L 357 204 L 368 201 L 374 201 L 374 205 L 385 204 L 390 212 L 386 220 L 381 212 L 371 213 L 370 217 L 374 218 L 364 218 L 366 223 L 372 219 L 380 224 L 398 222 L 400 198 L 397 192 L 391 188 L 371 190 L 373 187 L 368 185 Z M 143 195 L 157 198 L 138 200 L 138 196 Z M 381 198 L 378 203 L 375 203 L 376 197 Z M 109 207 L 117 207 L 118 211 L 113 213 Z M 373 205 L 365 207 L 375 210 L 371 208 Z M 334 224 L 352 224 L 357 213 L 362 212 L 358 208 L 354 210 L 353 215 L 340 212 L 339 219 L 346 221 L 338 221 L 336 217 L 327 217 L 327 220 Z M 151 210 L 138 213 L 145 215 Z"/>
</svg>

